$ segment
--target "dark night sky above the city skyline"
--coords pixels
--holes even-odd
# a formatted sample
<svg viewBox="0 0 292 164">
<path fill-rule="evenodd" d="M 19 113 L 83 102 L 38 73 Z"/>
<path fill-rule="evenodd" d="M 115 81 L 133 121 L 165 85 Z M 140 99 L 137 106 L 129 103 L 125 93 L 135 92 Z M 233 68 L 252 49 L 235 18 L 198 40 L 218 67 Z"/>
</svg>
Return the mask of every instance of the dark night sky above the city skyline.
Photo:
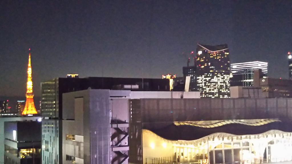
<svg viewBox="0 0 292 164">
<path fill-rule="evenodd" d="M 223 44 L 234 62 L 267 61 L 288 78 L 291 0 L 1 1 L 0 95 L 25 96 L 28 48 L 40 82 L 81 77 L 182 75 L 197 43 Z"/>
</svg>

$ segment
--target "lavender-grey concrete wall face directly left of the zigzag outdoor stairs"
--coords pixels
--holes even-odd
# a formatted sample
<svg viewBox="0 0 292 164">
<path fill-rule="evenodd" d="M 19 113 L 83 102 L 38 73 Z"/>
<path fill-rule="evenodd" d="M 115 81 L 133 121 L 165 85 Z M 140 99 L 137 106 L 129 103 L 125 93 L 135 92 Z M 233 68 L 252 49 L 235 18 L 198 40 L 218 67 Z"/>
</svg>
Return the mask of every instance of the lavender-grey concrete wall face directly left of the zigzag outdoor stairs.
<svg viewBox="0 0 292 164">
<path fill-rule="evenodd" d="M 91 163 L 110 163 L 110 109 L 109 91 L 95 90 L 90 93 L 90 111 L 86 120 L 90 120 Z M 84 121 L 85 123 L 86 121 Z M 84 145 L 85 148 L 85 145 Z M 84 163 L 89 163 L 85 161 Z"/>
</svg>

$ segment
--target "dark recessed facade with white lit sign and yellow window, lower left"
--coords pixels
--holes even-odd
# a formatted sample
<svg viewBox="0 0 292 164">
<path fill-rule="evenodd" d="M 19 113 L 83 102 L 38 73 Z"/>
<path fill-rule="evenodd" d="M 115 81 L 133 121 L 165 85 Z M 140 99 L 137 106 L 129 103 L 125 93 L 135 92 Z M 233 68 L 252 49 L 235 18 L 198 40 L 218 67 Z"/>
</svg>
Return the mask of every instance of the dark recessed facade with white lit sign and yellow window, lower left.
<svg viewBox="0 0 292 164">
<path fill-rule="evenodd" d="M 5 122 L 4 137 L 5 164 L 41 164 L 40 122 Z"/>
</svg>

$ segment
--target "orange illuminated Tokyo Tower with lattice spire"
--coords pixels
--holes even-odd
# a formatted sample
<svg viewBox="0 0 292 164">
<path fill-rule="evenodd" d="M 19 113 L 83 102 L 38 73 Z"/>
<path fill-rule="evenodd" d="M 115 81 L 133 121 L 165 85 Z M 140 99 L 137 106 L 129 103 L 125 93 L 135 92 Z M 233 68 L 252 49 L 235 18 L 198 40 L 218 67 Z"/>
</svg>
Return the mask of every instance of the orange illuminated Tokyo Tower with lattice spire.
<svg viewBox="0 0 292 164">
<path fill-rule="evenodd" d="M 30 48 L 28 49 L 30 50 Z M 22 115 L 37 114 L 36 107 L 34 107 L 34 94 L 32 92 L 32 66 L 30 64 L 30 52 L 27 66 L 27 86 L 26 86 L 26 101 Z"/>
</svg>

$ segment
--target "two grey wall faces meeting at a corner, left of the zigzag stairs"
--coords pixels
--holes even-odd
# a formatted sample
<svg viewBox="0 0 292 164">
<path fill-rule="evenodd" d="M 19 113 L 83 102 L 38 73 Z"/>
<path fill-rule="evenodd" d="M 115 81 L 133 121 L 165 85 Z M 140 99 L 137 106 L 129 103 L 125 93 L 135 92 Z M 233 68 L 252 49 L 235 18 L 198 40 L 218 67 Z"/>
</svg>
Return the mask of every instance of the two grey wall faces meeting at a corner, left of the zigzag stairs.
<svg viewBox="0 0 292 164">
<path fill-rule="evenodd" d="M 70 163 L 65 156 L 72 154 L 71 145 L 78 147 L 74 155 L 82 158 L 80 153 L 83 153 L 84 163 L 110 163 L 109 90 L 83 90 L 63 95 L 63 163 Z M 84 142 L 70 144 L 66 134 L 83 136 Z"/>
</svg>

